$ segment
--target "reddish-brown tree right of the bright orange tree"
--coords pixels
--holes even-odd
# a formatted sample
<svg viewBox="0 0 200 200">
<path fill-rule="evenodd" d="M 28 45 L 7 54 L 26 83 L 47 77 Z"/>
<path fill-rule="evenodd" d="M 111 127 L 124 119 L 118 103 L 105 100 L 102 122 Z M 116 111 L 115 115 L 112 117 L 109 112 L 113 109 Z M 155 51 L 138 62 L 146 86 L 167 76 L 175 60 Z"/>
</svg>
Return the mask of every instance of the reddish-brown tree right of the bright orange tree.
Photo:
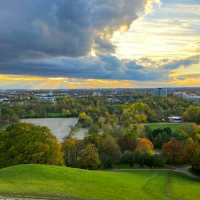
<svg viewBox="0 0 200 200">
<path fill-rule="evenodd" d="M 165 143 L 162 152 L 170 164 L 182 164 L 184 162 L 183 144 L 176 139 L 171 139 Z"/>
</svg>

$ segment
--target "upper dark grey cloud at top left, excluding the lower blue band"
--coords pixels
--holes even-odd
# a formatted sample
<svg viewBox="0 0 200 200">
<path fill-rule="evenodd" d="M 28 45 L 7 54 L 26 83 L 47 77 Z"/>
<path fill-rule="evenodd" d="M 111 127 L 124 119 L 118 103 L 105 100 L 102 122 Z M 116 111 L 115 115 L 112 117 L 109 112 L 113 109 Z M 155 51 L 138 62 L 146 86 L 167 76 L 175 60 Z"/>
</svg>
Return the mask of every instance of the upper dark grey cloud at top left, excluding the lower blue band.
<svg viewBox="0 0 200 200">
<path fill-rule="evenodd" d="M 0 62 L 86 55 L 113 51 L 99 34 L 130 23 L 144 10 L 143 0 L 0 1 Z"/>
</svg>

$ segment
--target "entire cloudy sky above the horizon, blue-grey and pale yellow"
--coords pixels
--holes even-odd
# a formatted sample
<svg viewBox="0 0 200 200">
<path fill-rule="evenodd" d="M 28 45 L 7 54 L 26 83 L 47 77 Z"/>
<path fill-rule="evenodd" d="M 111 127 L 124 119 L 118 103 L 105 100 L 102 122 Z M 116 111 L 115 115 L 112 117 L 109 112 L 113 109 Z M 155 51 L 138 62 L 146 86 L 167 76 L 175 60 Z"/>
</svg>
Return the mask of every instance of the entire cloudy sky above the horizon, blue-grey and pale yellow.
<svg viewBox="0 0 200 200">
<path fill-rule="evenodd" d="M 0 89 L 191 86 L 199 0 L 0 1 Z"/>
</svg>

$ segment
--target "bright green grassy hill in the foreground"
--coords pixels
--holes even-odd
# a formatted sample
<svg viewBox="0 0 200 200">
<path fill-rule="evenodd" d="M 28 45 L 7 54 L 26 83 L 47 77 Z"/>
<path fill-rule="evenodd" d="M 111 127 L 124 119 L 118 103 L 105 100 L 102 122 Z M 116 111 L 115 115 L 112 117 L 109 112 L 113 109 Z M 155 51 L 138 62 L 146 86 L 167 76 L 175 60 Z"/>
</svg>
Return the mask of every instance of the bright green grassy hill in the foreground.
<svg viewBox="0 0 200 200">
<path fill-rule="evenodd" d="M 198 200 L 200 182 L 167 171 L 86 171 L 44 165 L 0 170 L 0 196 L 68 200 Z"/>
</svg>

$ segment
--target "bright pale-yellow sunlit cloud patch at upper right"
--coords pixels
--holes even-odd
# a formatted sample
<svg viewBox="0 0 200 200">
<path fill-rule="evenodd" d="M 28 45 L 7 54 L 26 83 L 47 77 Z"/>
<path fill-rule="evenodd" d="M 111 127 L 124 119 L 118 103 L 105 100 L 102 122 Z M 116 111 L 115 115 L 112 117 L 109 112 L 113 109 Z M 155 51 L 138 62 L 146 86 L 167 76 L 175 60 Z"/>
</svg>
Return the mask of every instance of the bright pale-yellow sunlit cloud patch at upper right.
<svg viewBox="0 0 200 200">
<path fill-rule="evenodd" d="M 116 54 L 126 59 L 183 59 L 199 52 L 200 20 L 146 19 L 135 21 L 126 33 L 115 32 Z"/>
</svg>

